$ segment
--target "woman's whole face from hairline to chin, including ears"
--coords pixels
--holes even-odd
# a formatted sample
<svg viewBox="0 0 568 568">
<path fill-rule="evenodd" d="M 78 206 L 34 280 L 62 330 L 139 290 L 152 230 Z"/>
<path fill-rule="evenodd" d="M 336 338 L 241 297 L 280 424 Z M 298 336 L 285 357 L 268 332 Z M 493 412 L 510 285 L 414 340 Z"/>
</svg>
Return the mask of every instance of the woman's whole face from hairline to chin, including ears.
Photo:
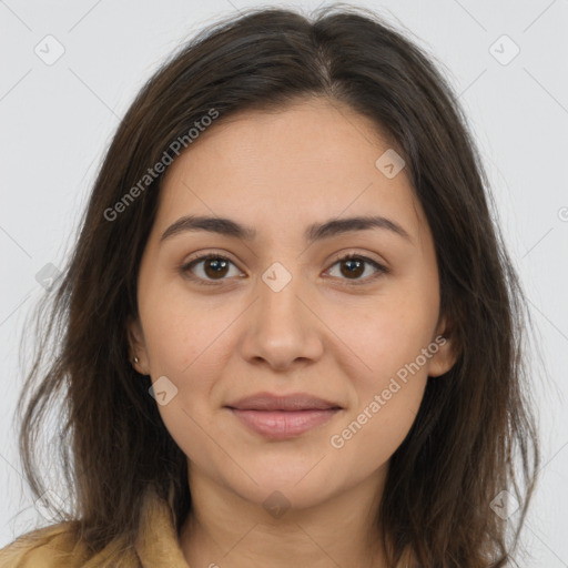
<svg viewBox="0 0 568 568">
<path fill-rule="evenodd" d="M 169 168 L 131 331 L 190 481 L 297 508 L 375 484 L 452 366 L 432 234 L 387 151 L 318 99 L 213 124 Z M 216 222 L 168 231 L 183 217 Z M 256 394 L 305 404 L 239 404 Z"/>
</svg>

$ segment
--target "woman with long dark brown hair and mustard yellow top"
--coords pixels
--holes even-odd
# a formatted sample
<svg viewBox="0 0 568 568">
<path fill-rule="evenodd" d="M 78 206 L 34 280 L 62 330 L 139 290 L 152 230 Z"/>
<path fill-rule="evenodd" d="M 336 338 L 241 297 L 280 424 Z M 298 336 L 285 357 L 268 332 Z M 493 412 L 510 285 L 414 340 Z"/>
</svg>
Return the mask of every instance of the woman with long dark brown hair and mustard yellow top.
<svg viewBox="0 0 568 568">
<path fill-rule="evenodd" d="M 32 440 L 69 388 L 73 510 L 0 566 L 509 566 L 538 446 L 486 186 L 373 12 L 202 32 L 118 129 L 20 399 L 53 505 Z"/>
</svg>

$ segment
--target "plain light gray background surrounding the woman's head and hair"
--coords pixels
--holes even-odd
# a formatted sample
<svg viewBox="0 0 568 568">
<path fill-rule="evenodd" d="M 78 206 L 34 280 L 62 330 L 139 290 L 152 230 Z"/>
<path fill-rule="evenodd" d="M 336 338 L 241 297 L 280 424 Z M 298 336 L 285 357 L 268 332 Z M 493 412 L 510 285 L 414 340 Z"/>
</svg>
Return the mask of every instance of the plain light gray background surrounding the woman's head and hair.
<svg viewBox="0 0 568 568">
<path fill-rule="evenodd" d="M 523 538 L 532 557 L 517 561 L 568 567 L 568 0 L 352 3 L 405 29 L 445 65 L 481 148 L 549 375 L 535 376 L 544 463 Z M 41 519 L 12 426 L 23 381 L 18 341 L 44 292 L 36 275 L 62 265 L 103 152 L 160 61 L 204 24 L 250 6 L 261 4 L 0 0 L 0 547 Z M 34 52 L 55 53 L 48 34 L 64 48 L 51 65 Z M 504 34 L 520 49 L 507 64 L 515 47 Z"/>
</svg>

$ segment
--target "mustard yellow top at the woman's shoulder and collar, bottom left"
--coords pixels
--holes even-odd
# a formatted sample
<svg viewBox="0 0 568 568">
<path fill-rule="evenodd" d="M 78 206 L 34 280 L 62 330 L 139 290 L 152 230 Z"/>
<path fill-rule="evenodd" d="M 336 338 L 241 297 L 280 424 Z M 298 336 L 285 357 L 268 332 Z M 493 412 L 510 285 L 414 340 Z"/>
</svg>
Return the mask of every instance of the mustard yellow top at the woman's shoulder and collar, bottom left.
<svg viewBox="0 0 568 568">
<path fill-rule="evenodd" d="M 70 538 L 68 528 L 60 523 L 20 536 L 0 549 L 0 568 L 190 568 L 180 548 L 173 511 L 150 488 L 133 548 L 115 540 L 85 561 L 83 546 Z"/>
</svg>

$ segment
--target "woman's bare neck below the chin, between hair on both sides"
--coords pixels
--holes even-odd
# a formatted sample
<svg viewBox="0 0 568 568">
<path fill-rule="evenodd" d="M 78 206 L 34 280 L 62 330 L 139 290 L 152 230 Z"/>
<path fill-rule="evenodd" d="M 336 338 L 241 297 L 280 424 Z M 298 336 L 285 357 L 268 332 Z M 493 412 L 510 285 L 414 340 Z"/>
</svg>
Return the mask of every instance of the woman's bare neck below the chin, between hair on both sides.
<svg viewBox="0 0 568 568">
<path fill-rule="evenodd" d="M 192 470 L 192 510 L 180 535 L 191 568 L 384 568 L 376 521 L 386 467 L 313 507 L 272 516 Z"/>
</svg>

